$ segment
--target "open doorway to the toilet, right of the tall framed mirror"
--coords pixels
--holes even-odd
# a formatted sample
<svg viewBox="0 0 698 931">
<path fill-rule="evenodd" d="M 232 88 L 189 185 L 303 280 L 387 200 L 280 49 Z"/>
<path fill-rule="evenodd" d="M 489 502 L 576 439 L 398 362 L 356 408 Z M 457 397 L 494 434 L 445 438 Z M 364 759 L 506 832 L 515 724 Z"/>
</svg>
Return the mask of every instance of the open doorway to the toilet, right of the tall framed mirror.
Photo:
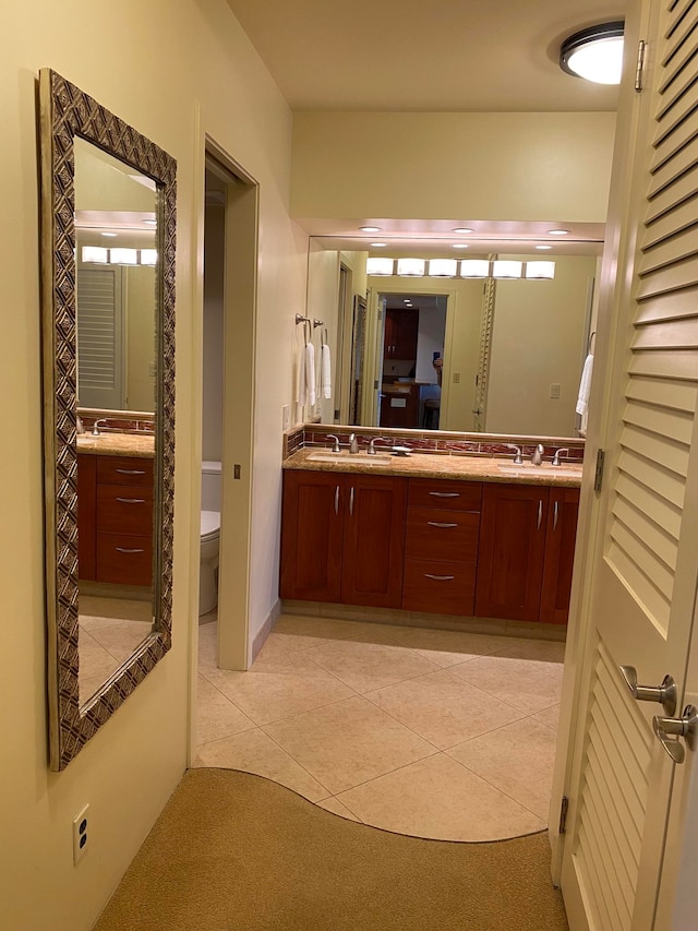
<svg viewBox="0 0 698 931">
<path fill-rule="evenodd" d="M 218 665 L 238 670 L 249 661 L 257 201 L 254 179 L 207 141 L 200 611 L 218 619 Z"/>
</svg>

